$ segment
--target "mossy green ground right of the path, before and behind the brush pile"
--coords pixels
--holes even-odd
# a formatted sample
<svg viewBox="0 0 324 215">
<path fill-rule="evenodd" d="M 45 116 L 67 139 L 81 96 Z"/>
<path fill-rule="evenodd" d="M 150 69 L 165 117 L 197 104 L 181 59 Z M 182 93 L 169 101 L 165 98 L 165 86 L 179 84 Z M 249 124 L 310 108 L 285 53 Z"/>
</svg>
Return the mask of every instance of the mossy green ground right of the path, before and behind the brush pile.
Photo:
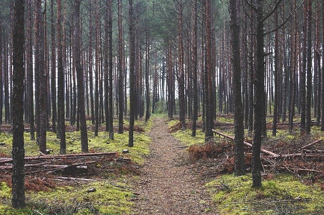
<svg viewBox="0 0 324 215">
<path fill-rule="evenodd" d="M 177 124 L 177 120 L 169 122 L 169 127 Z M 216 128 L 216 130 L 218 130 Z M 233 129 L 219 130 L 227 135 L 234 136 Z M 191 130 L 171 133 L 184 145 L 204 145 L 205 134 L 197 130 L 195 137 Z M 246 140 L 252 140 L 245 130 Z M 300 132 L 295 129 L 278 130 L 277 136 L 272 137 L 271 130 L 267 132 L 268 142 L 283 141 L 291 144 L 292 139 L 300 138 Z M 215 137 L 216 140 L 219 138 Z M 316 126 L 312 127 L 312 136 L 308 138 L 323 138 L 324 133 Z M 220 175 L 206 184 L 211 198 L 218 205 L 221 214 L 324 214 L 324 192 L 320 183 L 306 185 L 293 175 L 276 174 L 270 179 L 264 179 L 262 187 L 252 188 L 251 175 L 234 177 Z"/>
</svg>

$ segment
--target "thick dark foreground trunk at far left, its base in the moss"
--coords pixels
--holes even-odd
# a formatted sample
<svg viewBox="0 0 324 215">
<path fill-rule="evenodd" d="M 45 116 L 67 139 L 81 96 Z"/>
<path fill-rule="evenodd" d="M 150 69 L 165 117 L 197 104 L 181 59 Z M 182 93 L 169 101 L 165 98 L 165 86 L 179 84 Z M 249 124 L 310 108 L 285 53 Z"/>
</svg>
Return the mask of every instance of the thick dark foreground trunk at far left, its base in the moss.
<svg viewBox="0 0 324 215">
<path fill-rule="evenodd" d="M 24 10 L 23 0 L 14 3 L 13 25 L 13 170 L 12 170 L 12 205 L 24 207 Z"/>
</svg>

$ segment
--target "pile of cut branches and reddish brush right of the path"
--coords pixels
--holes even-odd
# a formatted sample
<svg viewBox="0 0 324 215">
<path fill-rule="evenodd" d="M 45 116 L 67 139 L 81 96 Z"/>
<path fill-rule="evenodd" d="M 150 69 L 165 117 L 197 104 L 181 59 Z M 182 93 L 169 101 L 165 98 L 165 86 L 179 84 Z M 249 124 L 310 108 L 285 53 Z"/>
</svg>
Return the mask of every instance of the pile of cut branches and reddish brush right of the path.
<svg viewBox="0 0 324 215">
<path fill-rule="evenodd" d="M 191 157 L 199 160 L 197 171 L 205 177 L 234 171 L 234 137 L 214 131 L 223 141 L 210 142 L 201 146 L 191 146 L 188 151 Z M 310 181 L 324 178 L 324 148 L 322 139 L 309 140 L 301 138 L 293 140 L 276 139 L 264 141 L 261 148 L 261 161 L 264 174 L 290 173 L 297 177 L 309 176 Z M 214 146 L 211 146 L 214 145 Z M 245 165 L 247 171 L 252 167 L 252 144 L 244 142 Z M 206 160 L 209 164 L 206 165 Z M 205 164 L 199 164 L 205 163 Z"/>
</svg>

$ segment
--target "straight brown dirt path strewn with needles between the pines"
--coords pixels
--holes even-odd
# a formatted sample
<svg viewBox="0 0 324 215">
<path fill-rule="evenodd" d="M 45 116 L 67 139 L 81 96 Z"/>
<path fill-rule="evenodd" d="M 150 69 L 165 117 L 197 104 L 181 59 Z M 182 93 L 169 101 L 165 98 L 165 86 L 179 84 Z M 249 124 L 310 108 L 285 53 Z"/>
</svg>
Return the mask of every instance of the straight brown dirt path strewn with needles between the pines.
<svg viewBox="0 0 324 215">
<path fill-rule="evenodd" d="M 151 154 L 134 185 L 140 194 L 136 214 L 217 214 L 204 183 L 190 168 L 187 152 L 177 148 L 181 144 L 168 133 L 165 119 L 154 119 L 150 137 Z"/>
</svg>

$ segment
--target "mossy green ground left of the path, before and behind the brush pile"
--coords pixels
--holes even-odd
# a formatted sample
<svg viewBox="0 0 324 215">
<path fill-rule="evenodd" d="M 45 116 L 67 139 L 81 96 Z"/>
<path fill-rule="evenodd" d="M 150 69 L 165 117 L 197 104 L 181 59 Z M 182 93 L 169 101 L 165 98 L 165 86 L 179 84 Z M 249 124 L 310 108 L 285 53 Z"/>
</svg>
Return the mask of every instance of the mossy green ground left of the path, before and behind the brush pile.
<svg viewBox="0 0 324 215">
<path fill-rule="evenodd" d="M 128 125 L 129 122 L 125 120 L 124 123 Z M 116 151 L 121 154 L 123 149 L 129 149 L 130 153 L 125 156 L 142 164 L 149 154 L 151 139 L 148 133 L 153 124 L 151 120 L 148 123 L 138 120 L 135 125 L 145 132 L 134 132 L 134 147 L 128 147 L 128 131 L 123 134 L 115 132 L 114 140 L 109 139 L 108 132 L 99 132 L 98 137 L 95 137 L 92 131 L 88 131 L 89 151 Z M 29 133 L 25 133 L 24 137 L 26 155 L 38 155 L 38 146 L 30 140 Z M 0 152 L 10 156 L 12 134 L 0 133 L 0 142 L 5 143 L 0 146 Z M 68 153 L 80 153 L 80 132 L 66 132 L 66 143 Z M 47 133 L 47 148 L 51 150 L 51 154 L 59 154 L 60 140 L 56 138 L 56 133 Z M 135 180 L 135 176 L 111 175 L 98 182 L 75 183 L 73 186 L 52 188 L 48 192 L 26 191 L 27 207 L 19 210 L 12 208 L 11 188 L 3 182 L 0 184 L 0 214 L 130 214 L 133 204 L 130 200 L 135 195 L 127 188 L 126 180 Z M 123 188 L 115 187 L 111 182 Z M 89 193 L 89 188 L 96 188 L 96 191 Z"/>
</svg>

